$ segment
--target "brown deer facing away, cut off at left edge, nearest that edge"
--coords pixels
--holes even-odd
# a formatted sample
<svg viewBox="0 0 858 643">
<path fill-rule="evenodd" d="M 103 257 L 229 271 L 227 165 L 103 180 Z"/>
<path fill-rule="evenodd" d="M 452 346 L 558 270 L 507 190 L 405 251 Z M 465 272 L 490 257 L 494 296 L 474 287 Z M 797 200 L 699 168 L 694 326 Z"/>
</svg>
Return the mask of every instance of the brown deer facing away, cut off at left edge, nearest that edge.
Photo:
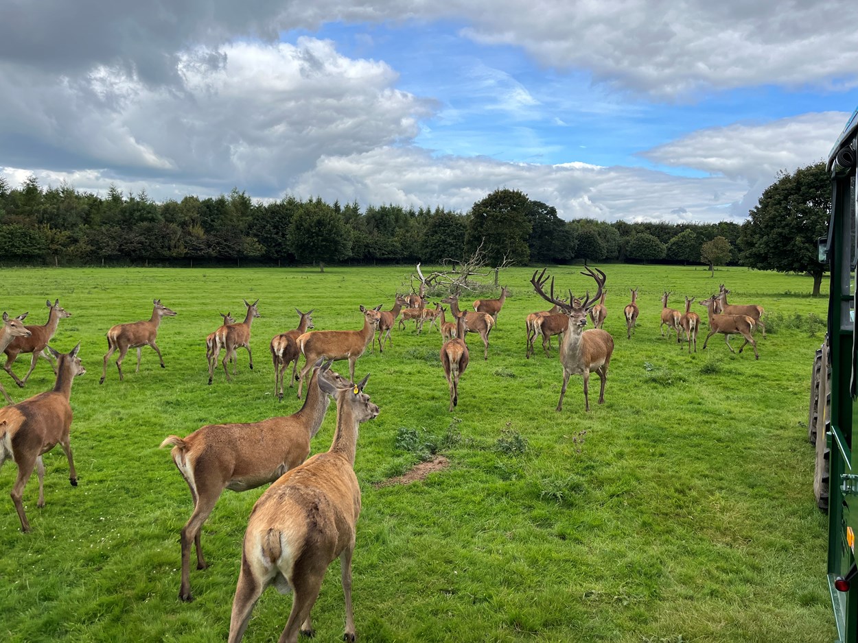
<svg viewBox="0 0 858 643">
<path fill-rule="evenodd" d="M 12 502 L 18 518 L 21 519 L 21 531 L 29 532 L 30 523 L 24 513 L 21 498 L 27 480 L 33 475 L 33 467 L 39 477 L 39 502 L 37 507 L 45 506 L 45 463 L 42 455 L 59 444 L 69 459 L 69 482 L 77 486 L 75 462 L 71 458 L 69 429 L 72 412 L 69 405 L 71 382 L 76 376 L 87 372 L 81 364 L 77 352 L 78 344 L 68 354 L 47 347 L 57 359 L 57 382 L 51 391 L 33 395 L 32 398 L 0 409 L 0 467 L 11 458 L 18 466 L 18 477 L 12 487 Z"/>
</svg>

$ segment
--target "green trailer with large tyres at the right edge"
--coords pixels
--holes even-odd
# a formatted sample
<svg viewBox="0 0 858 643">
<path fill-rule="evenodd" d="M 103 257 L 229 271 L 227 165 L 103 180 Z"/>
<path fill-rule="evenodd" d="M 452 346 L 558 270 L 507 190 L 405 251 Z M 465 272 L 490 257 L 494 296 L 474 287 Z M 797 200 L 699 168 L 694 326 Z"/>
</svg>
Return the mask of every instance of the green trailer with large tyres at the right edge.
<svg viewBox="0 0 858 643">
<path fill-rule="evenodd" d="M 816 444 L 814 490 L 829 520 L 828 584 L 841 643 L 858 641 L 858 335 L 855 334 L 855 170 L 858 110 L 831 149 L 831 220 L 819 240 L 820 261 L 831 270 L 828 334 L 813 367 L 808 429 Z"/>
</svg>

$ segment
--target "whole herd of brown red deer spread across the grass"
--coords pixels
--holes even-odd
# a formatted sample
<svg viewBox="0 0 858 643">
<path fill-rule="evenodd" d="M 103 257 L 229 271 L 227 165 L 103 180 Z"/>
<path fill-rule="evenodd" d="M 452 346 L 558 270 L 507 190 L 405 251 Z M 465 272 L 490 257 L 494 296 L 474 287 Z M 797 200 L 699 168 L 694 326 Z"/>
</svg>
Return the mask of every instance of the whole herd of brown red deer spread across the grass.
<svg viewBox="0 0 858 643">
<path fill-rule="evenodd" d="M 583 275 L 594 279 L 596 290 L 591 297 L 587 291 L 576 297 L 567 289 L 567 296 L 555 293 L 554 278 L 536 271 L 530 279 L 535 293 L 552 304 L 551 309 L 527 315 L 525 358 L 534 354 L 535 338 L 541 336 L 542 347 L 550 357 L 551 338 L 559 337 L 559 361 L 563 383 L 557 411 L 563 408 L 563 399 L 570 376 L 583 377 L 584 409 L 589 412 L 589 375 L 599 377 L 598 403 L 605 401 L 607 371 L 611 364 L 614 340 L 604 330 L 608 315 L 605 299 L 606 274 L 598 268 L 585 266 Z M 548 283 L 550 279 L 550 284 Z M 548 288 L 546 289 L 546 286 Z M 639 313 L 638 289 L 631 289 L 631 302 L 623 309 L 626 338 L 631 340 L 637 327 Z M 683 337 L 688 352 L 697 352 L 697 335 L 700 315 L 692 312 L 694 297 L 685 297 L 685 309 L 671 309 L 668 299 L 672 292 L 662 291 L 660 332 L 667 337 L 676 336 L 680 344 Z M 765 337 L 765 325 L 760 320 L 764 309 L 758 305 L 732 305 L 727 303 L 730 291 L 721 285 L 699 304 L 706 308 L 709 334 L 704 349 L 714 334 L 724 335 L 731 352 L 730 335 L 739 334 L 745 339 L 739 352 L 751 344 L 755 358 L 759 358 L 753 332 L 760 327 Z M 510 291 L 504 286 L 497 299 L 477 299 L 473 310 L 459 308 L 459 293 L 440 299 L 434 307 L 427 307 L 424 288 L 419 293 L 396 295 L 393 307 L 366 308 L 360 306 L 363 326 L 354 330 L 314 330 L 313 309 L 295 311 L 299 315 L 297 328 L 277 334 L 269 349 L 275 371 L 275 396 L 282 400 L 284 382 L 289 388 L 298 382 L 298 398 L 305 394 L 303 406 L 289 416 L 265 419 L 251 424 L 206 424 L 185 437 L 167 436 L 161 447 L 172 447 L 171 456 L 178 472 L 188 484 L 193 511 L 181 530 L 181 584 L 178 592 L 183 601 L 190 601 L 190 552 L 196 550 L 196 568 L 207 567 L 202 556 L 202 525 L 211 514 L 224 490 L 245 491 L 263 484 L 268 490 L 254 506 L 241 555 L 241 568 L 233 600 L 229 640 L 239 641 L 251 616 L 251 610 L 265 587 L 274 585 L 280 592 L 294 592 L 292 611 L 288 616 L 281 641 L 297 641 L 299 634 L 312 635 L 311 608 L 329 564 L 336 558 L 341 561 L 341 580 L 345 594 L 345 640 L 355 640 L 351 601 L 351 561 L 355 544 L 355 526 L 360 514 L 360 486 L 354 475 L 354 458 L 360 424 L 378 416 L 378 406 L 372 404 L 364 392 L 369 376 L 355 384 L 355 365 L 368 347 L 384 352 L 392 344 L 391 330 L 397 319 L 399 328 L 414 321 L 420 334 L 423 324 L 430 322 L 430 330 L 437 326 L 441 335 L 440 361 L 450 389 L 450 412 L 459 402 L 459 382 L 468 368 L 468 333 L 479 334 L 484 360 L 488 359 L 489 337 L 498 325 L 498 315 Z M 223 323 L 205 338 L 208 362 L 208 384 L 212 384 L 221 360 L 227 382 L 232 381 L 229 364 L 236 375 L 236 352 L 245 348 L 250 368 L 251 324 L 260 316 L 257 304 L 245 300 L 245 318 L 236 322 L 230 313 L 221 314 Z M 442 304 L 448 304 L 449 309 Z M 108 351 L 103 359 L 99 382 L 106 379 L 107 363 L 118 352 L 116 366 L 119 380 L 123 381 L 122 363 L 130 348 L 137 350 L 137 371 L 140 370 L 141 349 L 150 346 L 157 353 L 161 368 L 164 359 L 155 343 L 163 317 L 176 316 L 160 299 L 153 300 L 151 317 L 146 321 L 118 324 L 106 333 Z M 39 358 L 44 358 L 56 375 L 51 391 L 34 395 L 15 404 L 0 383 L 0 393 L 8 406 L 0 408 L 0 466 L 5 460 L 14 460 L 18 469 L 11 496 L 21 521 L 21 531 L 29 532 L 30 524 L 24 511 L 22 496 L 33 469 L 39 478 L 39 501 L 44 498 L 45 466 L 42 456 L 59 444 L 69 460 L 69 481 L 77 486 L 77 478 L 69 442 L 72 411 L 69 405 L 71 385 L 76 376 L 86 373 L 78 358 L 80 344 L 71 352 L 57 352 L 49 346 L 61 319 L 71 316 L 59 305 L 59 300 L 46 303 L 48 319 L 42 326 L 23 323 L 27 313 L 10 317 L 3 313 L 0 327 L 0 351 L 7 356 L 3 369 L 15 384 L 24 388 Z M 447 313 L 450 318 L 448 319 Z M 594 328 L 586 329 L 587 318 Z M 221 358 L 223 352 L 223 358 Z M 11 369 L 21 353 L 31 353 L 27 375 L 19 378 Z M 299 368 L 299 358 L 304 365 Z M 348 362 L 348 377 L 331 370 L 335 361 Z M 292 375 L 287 377 L 292 364 Z M 336 430 L 333 443 L 325 453 L 312 456 L 310 443 L 327 412 L 330 400 L 335 400 Z"/>
</svg>

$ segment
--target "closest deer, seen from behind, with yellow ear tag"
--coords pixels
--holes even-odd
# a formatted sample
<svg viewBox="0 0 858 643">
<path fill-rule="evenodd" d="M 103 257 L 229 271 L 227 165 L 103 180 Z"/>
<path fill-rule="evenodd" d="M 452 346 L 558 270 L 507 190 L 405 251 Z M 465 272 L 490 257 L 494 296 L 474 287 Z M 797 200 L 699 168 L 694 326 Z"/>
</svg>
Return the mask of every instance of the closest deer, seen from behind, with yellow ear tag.
<svg viewBox="0 0 858 643">
<path fill-rule="evenodd" d="M 263 590 L 294 592 L 292 611 L 280 640 L 313 636 L 311 610 L 329 564 L 340 558 L 346 604 L 344 640 L 355 640 L 352 612 L 352 556 L 360 516 L 360 486 L 354 456 L 361 423 L 378 416 L 378 406 L 360 384 L 338 388 L 324 376 L 319 387 L 336 398 L 336 432 L 330 449 L 287 472 L 260 496 L 251 512 L 235 588 L 229 643 L 245 634 Z"/>
</svg>

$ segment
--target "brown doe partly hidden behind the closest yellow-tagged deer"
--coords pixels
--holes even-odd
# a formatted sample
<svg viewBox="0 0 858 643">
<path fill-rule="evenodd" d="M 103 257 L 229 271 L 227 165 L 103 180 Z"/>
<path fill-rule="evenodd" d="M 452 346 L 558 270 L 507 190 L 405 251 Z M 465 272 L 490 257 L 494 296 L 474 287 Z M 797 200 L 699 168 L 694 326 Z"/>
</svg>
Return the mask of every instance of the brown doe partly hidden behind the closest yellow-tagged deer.
<svg viewBox="0 0 858 643">
<path fill-rule="evenodd" d="M 160 448 L 172 446 L 170 455 L 190 488 L 194 511 L 182 529 L 182 583 L 178 598 L 190 594 L 190 548 L 196 546 L 196 568 L 208 567 L 202 556 L 202 525 L 225 489 L 246 491 L 274 482 L 310 455 L 310 442 L 322 426 L 329 398 L 317 386 L 318 373 L 339 387 L 347 380 L 330 363 L 314 365 L 307 399 L 299 412 L 247 424 L 207 424 L 190 436 L 168 436 Z"/>
</svg>

